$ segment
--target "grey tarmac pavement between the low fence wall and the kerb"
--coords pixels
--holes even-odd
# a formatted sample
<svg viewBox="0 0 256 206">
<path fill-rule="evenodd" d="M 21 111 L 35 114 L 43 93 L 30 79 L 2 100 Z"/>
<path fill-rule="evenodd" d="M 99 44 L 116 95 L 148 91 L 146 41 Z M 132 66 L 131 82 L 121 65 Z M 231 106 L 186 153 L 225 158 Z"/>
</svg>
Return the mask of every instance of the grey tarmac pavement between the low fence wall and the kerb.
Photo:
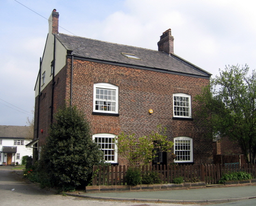
<svg viewBox="0 0 256 206">
<path fill-rule="evenodd" d="M 137 200 L 166 203 L 224 203 L 256 198 L 256 186 L 207 187 L 161 191 L 108 192 L 71 194 L 99 200 Z"/>
</svg>

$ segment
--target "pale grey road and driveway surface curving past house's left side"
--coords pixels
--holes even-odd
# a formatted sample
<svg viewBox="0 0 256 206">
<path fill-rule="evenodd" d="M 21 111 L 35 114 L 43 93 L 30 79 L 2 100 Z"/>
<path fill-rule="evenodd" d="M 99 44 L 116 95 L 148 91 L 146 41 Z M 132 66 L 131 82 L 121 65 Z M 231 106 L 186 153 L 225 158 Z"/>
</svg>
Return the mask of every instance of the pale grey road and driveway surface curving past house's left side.
<svg viewBox="0 0 256 206">
<path fill-rule="evenodd" d="M 0 166 L 0 206 L 182 206 L 181 204 L 135 201 L 107 201 L 54 194 L 29 183 L 12 171 Z M 187 206 L 187 205 L 186 205 Z M 190 205 L 192 206 L 192 205 Z M 195 206 L 195 205 L 194 205 Z"/>
</svg>

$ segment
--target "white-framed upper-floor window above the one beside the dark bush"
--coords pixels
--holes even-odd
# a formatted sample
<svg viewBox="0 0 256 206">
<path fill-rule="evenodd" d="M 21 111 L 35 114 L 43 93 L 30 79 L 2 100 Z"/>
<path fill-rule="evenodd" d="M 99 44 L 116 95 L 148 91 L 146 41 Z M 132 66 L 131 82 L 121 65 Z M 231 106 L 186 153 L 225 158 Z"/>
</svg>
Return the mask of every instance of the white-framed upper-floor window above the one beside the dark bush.
<svg viewBox="0 0 256 206">
<path fill-rule="evenodd" d="M 118 87 L 108 83 L 94 84 L 94 112 L 118 113 Z"/>
</svg>

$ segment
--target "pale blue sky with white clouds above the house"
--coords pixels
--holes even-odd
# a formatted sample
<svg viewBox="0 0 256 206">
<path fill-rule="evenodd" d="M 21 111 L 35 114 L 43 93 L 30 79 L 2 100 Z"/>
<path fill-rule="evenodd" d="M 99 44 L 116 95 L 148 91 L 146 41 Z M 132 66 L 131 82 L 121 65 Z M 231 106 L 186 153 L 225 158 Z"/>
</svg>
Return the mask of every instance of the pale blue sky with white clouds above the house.
<svg viewBox="0 0 256 206">
<path fill-rule="evenodd" d="M 256 69 L 255 6 L 254 0 L 1 0 L 0 125 L 25 126 L 33 118 L 53 9 L 60 33 L 152 50 L 170 28 L 174 53 L 215 77 L 226 65 Z"/>
</svg>

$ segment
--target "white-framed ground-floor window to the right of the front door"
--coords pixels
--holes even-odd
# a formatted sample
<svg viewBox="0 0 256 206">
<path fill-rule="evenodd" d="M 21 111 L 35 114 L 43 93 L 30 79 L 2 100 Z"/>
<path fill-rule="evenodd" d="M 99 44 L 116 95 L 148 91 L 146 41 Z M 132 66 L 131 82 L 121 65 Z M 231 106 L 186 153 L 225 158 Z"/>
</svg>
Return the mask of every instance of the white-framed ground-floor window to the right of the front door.
<svg viewBox="0 0 256 206">
<path fill-rule="evenodd" d="M 193 140 L 190 137 L 174 138 L 174 162 L 193 162 Z"/>
</svg>

